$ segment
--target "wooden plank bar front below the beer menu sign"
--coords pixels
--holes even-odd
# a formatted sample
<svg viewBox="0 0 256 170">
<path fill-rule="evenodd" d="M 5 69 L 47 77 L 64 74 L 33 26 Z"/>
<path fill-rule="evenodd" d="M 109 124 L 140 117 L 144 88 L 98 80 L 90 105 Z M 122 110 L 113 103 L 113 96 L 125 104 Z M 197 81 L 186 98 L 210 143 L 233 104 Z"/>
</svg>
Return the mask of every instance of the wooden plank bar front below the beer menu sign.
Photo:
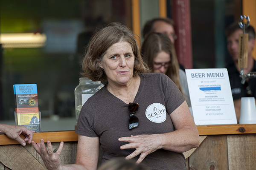
<svg viewBox="0 0 256 170">
<path fill-rule="evenodd" d="M 207 136 L 186 160 L 188 170 L 255 170 L 256 134 Z"/>
</svg>

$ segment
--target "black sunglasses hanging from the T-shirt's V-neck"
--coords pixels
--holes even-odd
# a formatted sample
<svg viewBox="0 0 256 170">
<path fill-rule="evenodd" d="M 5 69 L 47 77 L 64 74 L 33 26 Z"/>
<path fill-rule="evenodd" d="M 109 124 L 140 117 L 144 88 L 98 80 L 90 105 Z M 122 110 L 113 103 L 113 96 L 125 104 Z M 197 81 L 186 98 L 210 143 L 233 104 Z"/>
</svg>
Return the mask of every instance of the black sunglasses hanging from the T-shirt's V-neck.
<svg viewBox="0 0 256 170">
<path fill-rule="evenodd" d="M 136 113 L 139 110 L 138 103 L 129 103 L 129 129 L 132 130 L 132 128 L 139 126 L 139 118 L 137 116 L 134 116 L 134 113 Z"/>
</svg>

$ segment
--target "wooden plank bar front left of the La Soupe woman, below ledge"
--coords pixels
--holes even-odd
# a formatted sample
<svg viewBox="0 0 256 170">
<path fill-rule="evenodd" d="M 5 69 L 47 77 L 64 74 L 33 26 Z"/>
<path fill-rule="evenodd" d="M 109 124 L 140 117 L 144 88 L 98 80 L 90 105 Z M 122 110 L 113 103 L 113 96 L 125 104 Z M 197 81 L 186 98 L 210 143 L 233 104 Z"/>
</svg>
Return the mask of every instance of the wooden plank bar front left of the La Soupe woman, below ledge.
<svg viewBox="0 0 256 170">
<path fill-rule="evenodd" d="M 47 145 L 47 143 L 45 143 Z M 52 143 L 53 151 L 60 142 Z M 65 142 L 61 152 L 61 164 L 74 164 L 76 161 L 77 142 Z M 46 170 L 44 162 L 31 144 L 0 146 L 0 170 Z"/>
</svg>

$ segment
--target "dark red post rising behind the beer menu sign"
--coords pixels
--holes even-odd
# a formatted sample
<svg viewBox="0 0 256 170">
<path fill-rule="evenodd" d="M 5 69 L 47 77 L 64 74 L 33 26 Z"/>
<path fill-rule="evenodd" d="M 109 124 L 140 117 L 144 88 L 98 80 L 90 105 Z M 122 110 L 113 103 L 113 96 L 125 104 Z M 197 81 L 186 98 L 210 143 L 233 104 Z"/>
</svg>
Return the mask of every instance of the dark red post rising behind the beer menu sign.
<svg viewBox="0 0 256 170">
<path fill-rule="evenodd" d="M 189 0 L 172 0 L 172 16 L 178 36 L 175 40 L 178 61 L 185 68 L 193 68 Z"/>
</svg>

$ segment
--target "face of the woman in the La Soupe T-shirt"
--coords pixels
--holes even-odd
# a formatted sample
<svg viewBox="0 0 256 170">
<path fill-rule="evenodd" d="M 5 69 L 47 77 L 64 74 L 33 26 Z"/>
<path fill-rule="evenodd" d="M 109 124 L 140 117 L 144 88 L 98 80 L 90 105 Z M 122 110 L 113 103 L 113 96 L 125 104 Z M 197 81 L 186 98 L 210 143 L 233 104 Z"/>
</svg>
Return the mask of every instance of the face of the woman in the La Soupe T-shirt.
<svg viewBox="0 0 256 170">
<path fill-rule="evenodd" d="M 134 70 L 134 54 L 131 45 L 125 41 L 113 44 L 98 64 L 104 69 L 109 83 L 127 84 L 132 79 Z"/>
</svg>

